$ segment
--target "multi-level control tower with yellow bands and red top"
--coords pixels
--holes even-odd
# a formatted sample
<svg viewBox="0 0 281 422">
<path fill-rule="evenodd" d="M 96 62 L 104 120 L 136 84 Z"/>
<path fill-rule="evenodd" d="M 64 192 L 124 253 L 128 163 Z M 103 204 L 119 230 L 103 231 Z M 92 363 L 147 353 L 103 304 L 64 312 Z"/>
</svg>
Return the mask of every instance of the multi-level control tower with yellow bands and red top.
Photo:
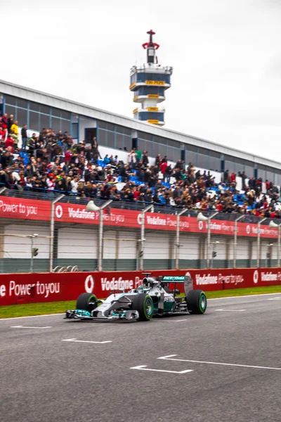
<svg viewBox="0 0 281 422">
<path fill-rule="evenodd" d="M 141 107 L 133 110 L 133 117 L 143 122 L 165 124 L 164 108 L 159 108 L 158 103 L 165 101 L 165 91 L 171 87 L 171 74 L 173 68 L 163 67 L 158 64 L 156 51 L 159 44 L 153 42 L 155 32 L 148 31 L 149 41 L 143 44 L 147 51 L 147 63 L 131 68 L 129 89 L 133 91 L 133 101 Z"/>
</svg>

